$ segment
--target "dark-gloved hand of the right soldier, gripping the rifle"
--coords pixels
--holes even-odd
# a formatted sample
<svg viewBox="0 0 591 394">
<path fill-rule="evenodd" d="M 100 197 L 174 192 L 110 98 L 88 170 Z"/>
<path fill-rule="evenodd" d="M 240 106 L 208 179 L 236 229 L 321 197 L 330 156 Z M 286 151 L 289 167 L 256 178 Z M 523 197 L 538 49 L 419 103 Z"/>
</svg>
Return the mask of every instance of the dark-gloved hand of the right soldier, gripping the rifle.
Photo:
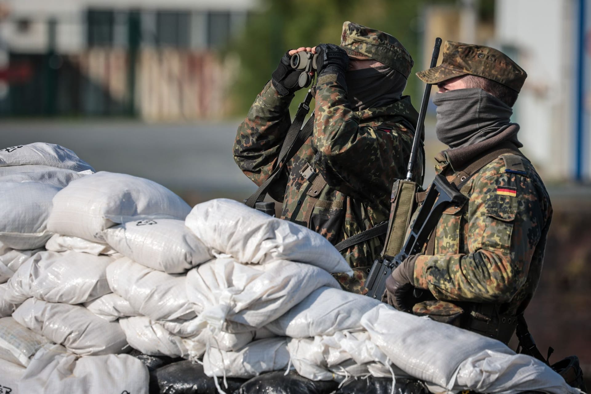
<svg viewBox="0 0 591 394">
<path fill-rule="evenodd" d="M 409 256 L 386 279 L 388 304 L 397 310 L 410 312 L 418 301 L 414 297 L 414 262 L 417 256 Z"/>
</svg>

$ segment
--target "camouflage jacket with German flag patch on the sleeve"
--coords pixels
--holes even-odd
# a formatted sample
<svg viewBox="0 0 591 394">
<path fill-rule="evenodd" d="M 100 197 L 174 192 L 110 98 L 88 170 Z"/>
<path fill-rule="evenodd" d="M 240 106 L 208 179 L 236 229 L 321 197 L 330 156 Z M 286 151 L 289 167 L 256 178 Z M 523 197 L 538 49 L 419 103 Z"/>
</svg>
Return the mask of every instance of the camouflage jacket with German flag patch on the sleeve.
<svg viewBox="0 0 591 394">
<path fill-rule="evenodd" d="M 463 206 L 444 211 L 431 236 L 434 255 L 415 260 L 414 285 L 436 301 L 414 305 L 415 314 L 444 321 L 458 308 L 496 304 L 501 314 L 522 313 L 540 279 L 550 197 L 531 163 L 512 171 L 501 155 L 462 187 Z M 454 170 L 443 159 L 436 172 L 448 180 Z"/>
</svg>

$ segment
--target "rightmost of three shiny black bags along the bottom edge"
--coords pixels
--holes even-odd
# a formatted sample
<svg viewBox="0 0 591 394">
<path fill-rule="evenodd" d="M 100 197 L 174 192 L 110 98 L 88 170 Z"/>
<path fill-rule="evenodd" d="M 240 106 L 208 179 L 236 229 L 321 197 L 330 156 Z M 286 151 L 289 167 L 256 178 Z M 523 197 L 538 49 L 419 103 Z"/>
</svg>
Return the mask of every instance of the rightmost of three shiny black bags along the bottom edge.
<svg viewBox="0 0 591 394">
<path fill-rule="evenodd" d="M 390 394 L 392 392 L 391 377 L 372 377 L 353 379 L 346 382 L 335 394 Z M 429 394 L 429 390 L 418 380 L 397 378 L 394 385 L 395 394 Z"/>
</svg>

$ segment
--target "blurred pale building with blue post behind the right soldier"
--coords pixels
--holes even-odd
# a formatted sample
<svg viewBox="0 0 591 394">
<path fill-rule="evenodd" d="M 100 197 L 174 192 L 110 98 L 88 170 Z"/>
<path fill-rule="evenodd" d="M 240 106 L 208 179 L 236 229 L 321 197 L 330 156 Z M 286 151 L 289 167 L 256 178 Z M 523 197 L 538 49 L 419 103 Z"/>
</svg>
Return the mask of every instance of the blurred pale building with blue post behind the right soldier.
<svg viewBox="0 0 591 394">
<path fill-rule="evenodd" d="M 588 3 L 496 0 L 493 21 L 479 19 L 478 0 L 430 5 L 423 13 L 423 59 L 430 58 L 433 40 L 439 36 L 498 48 L 527 71 L 513 121 L 521 125 L 525 153 L 546 180 L 580 181 L 591 176 Z"/>
</svg>

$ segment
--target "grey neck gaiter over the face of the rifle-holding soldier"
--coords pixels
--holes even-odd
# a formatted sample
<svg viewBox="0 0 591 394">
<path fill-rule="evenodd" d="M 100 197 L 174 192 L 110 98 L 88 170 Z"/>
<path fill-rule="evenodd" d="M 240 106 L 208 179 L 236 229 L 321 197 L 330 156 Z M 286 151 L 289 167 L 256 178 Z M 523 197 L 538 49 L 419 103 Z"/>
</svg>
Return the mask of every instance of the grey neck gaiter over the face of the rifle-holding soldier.
<svg viewBox="0 0 591 394">
<path fill-rule="evenodd" d="M 450 148 L 485 141 L 510 125 L 511 107 L 482 89 L 457 89 L 436 93 L 437 139 Z M 514 137 L 517 141 L 517 137 Z"/>
</svg>

